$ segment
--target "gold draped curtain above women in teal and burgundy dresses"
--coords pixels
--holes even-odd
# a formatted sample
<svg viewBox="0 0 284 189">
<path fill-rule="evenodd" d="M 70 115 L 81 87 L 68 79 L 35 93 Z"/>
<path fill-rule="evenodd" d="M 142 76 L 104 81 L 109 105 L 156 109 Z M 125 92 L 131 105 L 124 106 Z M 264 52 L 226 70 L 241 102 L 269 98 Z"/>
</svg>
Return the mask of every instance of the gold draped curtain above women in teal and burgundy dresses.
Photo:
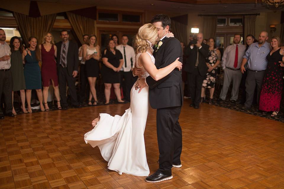
<svg viewBox="0 0 284 189">
<path fill-rule="evenodd" d="M 41 44 L 44 32 L 50 32 L 52 29 L 56 14 L 33 18 L 25 14 L 14 12 L 14 17 L 17 21 L 21 37 L 27 45 L 30 36 L 36 37 L 38 39 L 38 44 Z"/>
</svg>

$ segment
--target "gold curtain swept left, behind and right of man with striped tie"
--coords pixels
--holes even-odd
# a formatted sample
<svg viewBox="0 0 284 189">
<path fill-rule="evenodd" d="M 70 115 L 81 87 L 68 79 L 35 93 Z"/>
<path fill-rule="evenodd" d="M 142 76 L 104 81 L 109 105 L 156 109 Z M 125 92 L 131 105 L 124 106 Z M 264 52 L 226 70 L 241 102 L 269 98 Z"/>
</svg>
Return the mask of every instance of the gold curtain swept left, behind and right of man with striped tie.
<svg viewBox="0 0 284 189">
<path fill-rule="evenodd" d="M 78 39 L 82 44 L 84 44 L 83 35 L 93 35 L 95 34 L 95 20 L 87 17 L 80 16 L 78 14 L 73 14 L 66 12 L 69 22 L 73 30 L 75 31 Z"/>
</svg>

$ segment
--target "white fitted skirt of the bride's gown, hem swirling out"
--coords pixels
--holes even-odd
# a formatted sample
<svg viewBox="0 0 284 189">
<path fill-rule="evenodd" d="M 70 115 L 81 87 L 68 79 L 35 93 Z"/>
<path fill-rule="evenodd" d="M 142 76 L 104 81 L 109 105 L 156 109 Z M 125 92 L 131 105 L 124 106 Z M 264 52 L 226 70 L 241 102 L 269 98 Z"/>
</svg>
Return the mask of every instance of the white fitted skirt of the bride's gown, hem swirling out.
<svg viewBox="0 0 284 189">
<path fill-rule="evenodd" d="M 149 110 L 149 87 L 138 93 L 135 84 L 131 89 L 130 107 L 125 113 L 111 116 L 100 114 L 93 130 L 85 134 L 86 143 L 98 146 L 108 168 L 135 176 L 148 176 L 144 130 Z"/>
</svg>

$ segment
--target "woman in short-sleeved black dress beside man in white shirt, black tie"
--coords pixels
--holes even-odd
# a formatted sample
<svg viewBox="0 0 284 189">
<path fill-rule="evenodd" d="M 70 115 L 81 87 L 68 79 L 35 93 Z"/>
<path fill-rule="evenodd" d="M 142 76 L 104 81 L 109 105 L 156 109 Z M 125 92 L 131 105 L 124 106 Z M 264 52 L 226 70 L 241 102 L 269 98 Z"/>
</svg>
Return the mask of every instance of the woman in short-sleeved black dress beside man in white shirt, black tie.
<svg viewBox="0 0 284 189">
<path fill-rule="evenodd" d="M 109 104 L 110 89 L 114 87 L 114 93 L 118 102 L 124 102 L 121 100 L 120 94 L 120 69 L 123 65 L 122 54 L 119 50 L 116 50 L 114 40 L 108 41 L 108 47 L 102 54 L 103 65 L 101 67 L 102 80 L 104 82 L 104 95 L 106 97 L 106 103 Z"/>
</svg>

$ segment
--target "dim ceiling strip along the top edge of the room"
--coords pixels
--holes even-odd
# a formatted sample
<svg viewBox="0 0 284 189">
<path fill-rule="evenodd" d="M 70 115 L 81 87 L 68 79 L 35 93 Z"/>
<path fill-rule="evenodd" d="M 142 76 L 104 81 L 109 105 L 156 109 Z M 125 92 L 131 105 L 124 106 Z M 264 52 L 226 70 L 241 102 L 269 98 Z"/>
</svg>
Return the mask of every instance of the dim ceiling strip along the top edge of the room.
<svg viewBox="0 0 284 189">
<path fill-rule="evenodd" d="M 163 10 L 180 13 L 198 12 L 200 14 L 233 14 L 272 12 L 262 3 L 244 4 L 185 4 L 160 0 L 37 0 L 41 2 L 80 4 L 87 6 L 117 7 L 126 9 Z M 151 4 L 154 4 L 151 5 Z M 282 9 L 284 10 L 284 7 Z"/>
</svg>

